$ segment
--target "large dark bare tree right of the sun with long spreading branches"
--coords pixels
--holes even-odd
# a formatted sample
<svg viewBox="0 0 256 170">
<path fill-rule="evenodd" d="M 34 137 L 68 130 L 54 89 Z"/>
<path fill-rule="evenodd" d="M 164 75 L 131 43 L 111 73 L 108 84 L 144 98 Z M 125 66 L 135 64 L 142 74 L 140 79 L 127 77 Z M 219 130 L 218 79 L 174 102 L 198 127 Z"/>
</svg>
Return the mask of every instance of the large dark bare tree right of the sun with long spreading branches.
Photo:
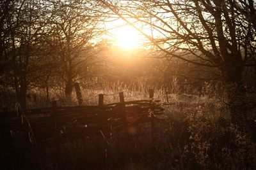
<svg viewBox="0 0 256 170">
<path fill-rule="evenodd" d="M 244 101 L 244 67 L 255 66 L 253 1 L 100 2 L 138 29 L 166 57 L 218 69 L 221 74 L 216 78 L 234 85 L 228 103 L 233 122 L 246 120 L 244 103 L 239 101 Z M 146 25 L 151 34 L 137 25 Z"/>
</svg>

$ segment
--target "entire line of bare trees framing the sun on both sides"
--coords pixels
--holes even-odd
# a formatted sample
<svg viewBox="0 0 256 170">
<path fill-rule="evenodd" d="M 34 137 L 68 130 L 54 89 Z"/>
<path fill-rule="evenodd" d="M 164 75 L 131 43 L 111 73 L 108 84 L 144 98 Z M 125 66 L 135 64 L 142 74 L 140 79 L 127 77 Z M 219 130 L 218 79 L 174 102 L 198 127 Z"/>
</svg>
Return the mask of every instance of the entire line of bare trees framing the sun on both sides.
<svg viewBox="0 0 256 170">
<path fill-rule="evenodd" d="M 104 47 L 102 22 L 121 18 L 169 63 L 189 66 L 188 77 L 193 72 L 194 79 L 225 82 L 232 120 L 246 122 L 248 92 L 255 93 L 248 83 L 256 69 L 255 6 L 253 0 L 4 0 L 1 85 L 15 89 L 24 107 L 29 88 L 47 89 L 56 81 L 70 98 L 74 82 L 99 69 L 93 64 L 100 64 Z"/>
</svg>

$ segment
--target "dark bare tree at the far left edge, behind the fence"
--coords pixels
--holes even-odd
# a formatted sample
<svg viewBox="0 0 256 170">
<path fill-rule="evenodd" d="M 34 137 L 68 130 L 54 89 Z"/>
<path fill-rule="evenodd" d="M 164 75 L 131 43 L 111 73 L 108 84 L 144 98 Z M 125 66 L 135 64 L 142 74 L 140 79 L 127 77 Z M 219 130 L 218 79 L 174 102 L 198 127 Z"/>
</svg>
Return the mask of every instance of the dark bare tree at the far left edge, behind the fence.
<svg viewBox="0 0 256 170">
<path fill-rule="evenodd" d="M 41 67 L 38 51 L 42 47 L 44 8 L 37 1 L 3 1 L 1 21 L 1 64 L 3 80 L 14 87 L 17 101 L 26 108 L 29 85 Z"/>
</svg>

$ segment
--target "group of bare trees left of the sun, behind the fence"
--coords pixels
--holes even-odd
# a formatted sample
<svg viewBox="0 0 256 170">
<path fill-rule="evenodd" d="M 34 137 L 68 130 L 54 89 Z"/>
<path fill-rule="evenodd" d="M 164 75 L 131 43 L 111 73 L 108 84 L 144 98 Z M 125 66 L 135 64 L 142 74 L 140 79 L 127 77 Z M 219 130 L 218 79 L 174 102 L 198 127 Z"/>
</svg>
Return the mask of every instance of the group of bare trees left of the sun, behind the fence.
<svg viewBox="0 0 256 170">
<path fill-rule="evenodd" d="M 22 108 L 28 89 L 49 90 L 54 83 L 62 83 L 70 98 L 74 82 L 92 72 L 93 62 L 99 60 L 99 5 L 4 0 L 0 8 L 2 88 L 15 89 Z"/>
</svg>

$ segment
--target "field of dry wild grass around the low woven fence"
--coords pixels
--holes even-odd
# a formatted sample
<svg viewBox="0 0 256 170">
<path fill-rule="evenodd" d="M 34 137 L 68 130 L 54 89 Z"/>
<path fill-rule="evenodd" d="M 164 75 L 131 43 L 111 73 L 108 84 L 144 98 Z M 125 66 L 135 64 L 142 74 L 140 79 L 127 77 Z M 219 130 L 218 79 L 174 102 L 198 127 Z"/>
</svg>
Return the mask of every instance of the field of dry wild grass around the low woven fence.
<svg viewBox="0 0 256 170">
<path fill-rule="evenodd" d="M 120 91 L 125 101 L 148 99 L 147 90 L 145 85 L 134 90 L 116 83 L 82 92 L 84 105 L 97 105 L 97 94 L 105 94 L 108 104 L 118 102 Z M 65 136 L 36 147 L 27 134 L 12 132 L 12 141 L 2 148 L 8 155 L 1 160 L 11 169 L 255 169 L 256 145 L 230 123 L 224 91 L 210 84 L 202 91 L 181 93 L 178 85 L 168 90 L 172 93 L 155 89 L 154 100 L 161 100 L 164 114 L 154 122 L 154 138 L 150 122 L 128 126 L 107 140 Z"/>
</svg>

